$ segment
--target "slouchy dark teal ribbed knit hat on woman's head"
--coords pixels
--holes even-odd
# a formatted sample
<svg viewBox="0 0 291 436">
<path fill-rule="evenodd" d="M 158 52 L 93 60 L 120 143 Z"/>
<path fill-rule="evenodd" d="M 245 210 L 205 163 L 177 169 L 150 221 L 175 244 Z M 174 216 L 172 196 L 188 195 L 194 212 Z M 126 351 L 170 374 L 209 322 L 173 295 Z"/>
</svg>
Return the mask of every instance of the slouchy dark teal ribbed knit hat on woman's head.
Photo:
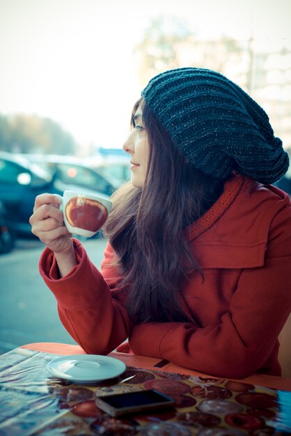
<svg viewBox="0 0 291 436">
<path fill-rule="evenodd" d="M 288 170 L 288 153 L 265 111 L 219 72 L 168 70 L 141 93 L 185 157 L 196 168 L 226 179 L 235 170 L 265 184 Z"/>
</svg>

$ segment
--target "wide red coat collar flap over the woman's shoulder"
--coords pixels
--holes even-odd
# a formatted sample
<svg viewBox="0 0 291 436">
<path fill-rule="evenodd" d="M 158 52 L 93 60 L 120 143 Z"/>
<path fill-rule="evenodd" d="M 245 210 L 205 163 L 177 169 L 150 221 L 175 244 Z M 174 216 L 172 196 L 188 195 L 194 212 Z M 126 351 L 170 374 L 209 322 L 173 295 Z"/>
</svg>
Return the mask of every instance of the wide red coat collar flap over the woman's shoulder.
<svg viewBox="0 0 291 436">
<path fill-rule="evenodd" d="M 279 189 L 236 175 L 203 217 L 185 230 L 202 268 L 264 265 L 269 228 L 286 204 Z"/>
</svg>

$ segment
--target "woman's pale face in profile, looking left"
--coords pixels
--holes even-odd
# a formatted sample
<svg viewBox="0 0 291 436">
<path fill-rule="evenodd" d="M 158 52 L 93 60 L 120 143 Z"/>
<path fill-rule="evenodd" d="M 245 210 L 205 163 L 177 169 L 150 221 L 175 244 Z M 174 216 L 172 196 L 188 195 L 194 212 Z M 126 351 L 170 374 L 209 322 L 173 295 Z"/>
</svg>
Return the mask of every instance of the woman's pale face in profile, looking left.
<svg viewBox="0 0 291 436">
<path fill-rule="evenodd" d="M 148 137 L 143 127 L 142 116 L 143 112 L 139 105 L 134 114 L 134 129 L 123 144 L 123 150 L 131 157 L 132 185 L 135 187 L 143 187 L 148 168 Z"/>
</svg>

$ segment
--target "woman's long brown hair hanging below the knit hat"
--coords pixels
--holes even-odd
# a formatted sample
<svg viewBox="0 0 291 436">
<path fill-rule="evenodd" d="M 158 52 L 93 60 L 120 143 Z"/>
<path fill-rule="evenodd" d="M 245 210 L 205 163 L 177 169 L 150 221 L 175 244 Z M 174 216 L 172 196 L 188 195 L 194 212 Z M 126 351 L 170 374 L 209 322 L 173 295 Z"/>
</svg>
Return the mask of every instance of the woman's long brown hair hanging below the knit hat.
<svg viewBox="0 0 291 436">
<path fill-rule="evenodd" d="M 146 181 L 113 194 L 104 233 L 116 251 L 133 322 L 182 322 L 189 318 L 179 293 L 190 271 L 202 273 L 183 231 L 217 200 L 223 182 L 187 162 L 143 100 L 134 105 L 132 125 L 139 104 L 150 145 Z"/>
</svg>

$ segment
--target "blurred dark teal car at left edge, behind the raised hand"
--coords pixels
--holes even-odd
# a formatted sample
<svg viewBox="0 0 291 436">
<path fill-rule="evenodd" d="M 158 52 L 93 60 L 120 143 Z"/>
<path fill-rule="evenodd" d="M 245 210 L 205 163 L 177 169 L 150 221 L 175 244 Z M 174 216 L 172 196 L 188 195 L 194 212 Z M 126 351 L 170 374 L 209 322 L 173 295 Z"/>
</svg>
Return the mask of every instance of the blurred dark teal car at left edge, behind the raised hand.
<svg viewBox="0 0 291 436">
<path fill-rule="evenodd" d="M 23 156 L 0 152 L 0 201 L 6 210 L 6 223 L 15 235 L 31 235 L 29 217 L 38 194 L 48 192 L 62 196 L 65 189 L 109 198 L 97 189 L 61 182 Z"/>
</svg>

